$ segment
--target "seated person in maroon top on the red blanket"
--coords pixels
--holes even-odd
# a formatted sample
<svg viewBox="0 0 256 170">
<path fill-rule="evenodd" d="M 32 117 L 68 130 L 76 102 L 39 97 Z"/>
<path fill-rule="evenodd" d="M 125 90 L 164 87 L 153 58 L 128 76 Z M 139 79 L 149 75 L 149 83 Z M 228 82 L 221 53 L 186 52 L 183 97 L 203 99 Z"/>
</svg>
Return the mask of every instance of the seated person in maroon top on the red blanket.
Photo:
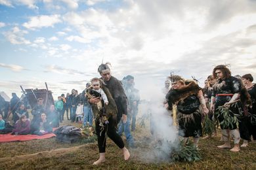
<svg viewBox="0 0 256 170">
<path fill-rule="evenodd" d="M 12 135 L 28 135 L 30 133 L 30 120 L 26 115 L 20 116 L 12 130 Z"/>
</svg>

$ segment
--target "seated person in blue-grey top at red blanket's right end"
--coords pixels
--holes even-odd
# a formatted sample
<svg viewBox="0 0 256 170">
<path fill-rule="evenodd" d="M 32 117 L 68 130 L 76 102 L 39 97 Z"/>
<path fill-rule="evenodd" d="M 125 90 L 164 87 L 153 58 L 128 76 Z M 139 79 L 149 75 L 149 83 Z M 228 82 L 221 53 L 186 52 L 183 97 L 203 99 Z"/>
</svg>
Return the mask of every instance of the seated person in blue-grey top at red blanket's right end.
<svg viewBox="0 0 256 170">
<path fill-rule="evenodd" d="M 41 114 L 41 118 L 32 125 L 31 129 L 34 135 L 45 135 L 53 131 L 53 128 L 49 125 L 49 122 L 47 122 L 45 113 Z"/>
</svg>

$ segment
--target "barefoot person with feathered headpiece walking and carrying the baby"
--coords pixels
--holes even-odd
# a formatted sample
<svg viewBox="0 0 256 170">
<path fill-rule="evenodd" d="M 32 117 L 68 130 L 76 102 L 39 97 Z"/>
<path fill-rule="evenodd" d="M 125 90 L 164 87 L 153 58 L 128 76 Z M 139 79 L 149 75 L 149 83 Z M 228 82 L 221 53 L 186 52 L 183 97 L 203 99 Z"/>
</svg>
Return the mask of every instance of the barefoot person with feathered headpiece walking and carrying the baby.
<svg viewBox="0 0 256 170">
<path fill-rule="evenodd" d="M 114 76 L 110 75 L 110 67 L 108 67 L 108 64 L 101 64 L 98 67 L 98 72 L 105 83 L 105 85 L 102 86 L 102 90 L 106 93 L 109 103 L 104 111 L 108 117 L 108 121 L 105 121 L 102 119 L 102 116 L 96 107 L 96 103 L 100 102 L 100 97 L 89 98 L 89 102 L 92 103 L 93 113 L 96 116 L 95 128 L 98 137 L 98 149 L 100 151 L 100 158 L 95 161 L 93 165 L 98 165 L 106 160 L 106 134 L 121 150 L 123 150 L 124 159 L 129 160 L 129 150 L 125 148 L 123 140 L 116 133 L 117 122 L 119 122 L 121 118 L 123 122 L 126 122 L 127 120 L 127 97 L 121 82 Z"/>
</svg>

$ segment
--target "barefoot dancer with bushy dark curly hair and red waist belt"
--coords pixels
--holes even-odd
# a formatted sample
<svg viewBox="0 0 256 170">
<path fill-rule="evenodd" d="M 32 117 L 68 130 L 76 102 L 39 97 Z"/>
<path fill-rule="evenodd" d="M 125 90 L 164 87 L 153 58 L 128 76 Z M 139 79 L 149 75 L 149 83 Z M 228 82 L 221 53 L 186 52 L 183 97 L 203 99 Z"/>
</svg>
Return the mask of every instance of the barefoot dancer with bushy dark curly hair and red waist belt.
<svg viewBox="0 0 256 170">
<path fill-rule="evenodd" d="M 239 108 L 230 105 L 230 103 L 239 99 L 241 92 L 241 84 L 237 78 L 231 76 L 230 70 L 225 65 L 217 65 L 213 69 L 213 77 L 217 78 L 217 83 L 213 86 L 213 95 L 211 97 L 211 110 L 215 113 L 219 112 L 219 107 L 230 107 L 230 116 L 234 114 L 240 114 Z M 218 117 L 219 122 L 223 122 L 223 115 L 220 113 Z M 236 123 L 223 126 L 221 124 L 221 133 L 223 135 L 224 144 L 218 146 L 218 148 L 230 148 L 229 133 L 234 139 L 234 148 L 230 151 L 240 151 L 240 133 Z"/>
</svg>

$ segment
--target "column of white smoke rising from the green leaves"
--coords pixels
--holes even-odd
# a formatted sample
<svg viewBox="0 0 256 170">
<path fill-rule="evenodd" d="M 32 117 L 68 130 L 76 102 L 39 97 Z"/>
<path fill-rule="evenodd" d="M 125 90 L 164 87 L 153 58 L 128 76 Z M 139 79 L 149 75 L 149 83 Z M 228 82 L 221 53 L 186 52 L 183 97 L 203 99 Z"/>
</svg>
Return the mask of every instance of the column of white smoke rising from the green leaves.
<svg viewBox="0 0 256 170">
<path fill-rule="evenodd" d="M 137 143 L 138 148 L 135 152 L 142 161 L 171 161 L 172 149 L 176 148 L 178 144 L 177 127 L 173 126 L 171 112 L 163 106 L 165 94 L 162 92 L 162 87 L 156 86 L 152 81 L 143 82 L 147 85 L 139 89 L 140 94 L 147 97 L 140 103 L 138 117 L 141 121 L 141 117 L 145 117 L 145 114 L 148 115 L 149 119 L 145 121 L 149 122 L 149 126 L 145 128 L 146 131 L 150 131 L 150 135 L 144 138 L 140 136 L 139 143 Z M 147 147 L 143 148 L 143 146 Z"/>
</svg>

